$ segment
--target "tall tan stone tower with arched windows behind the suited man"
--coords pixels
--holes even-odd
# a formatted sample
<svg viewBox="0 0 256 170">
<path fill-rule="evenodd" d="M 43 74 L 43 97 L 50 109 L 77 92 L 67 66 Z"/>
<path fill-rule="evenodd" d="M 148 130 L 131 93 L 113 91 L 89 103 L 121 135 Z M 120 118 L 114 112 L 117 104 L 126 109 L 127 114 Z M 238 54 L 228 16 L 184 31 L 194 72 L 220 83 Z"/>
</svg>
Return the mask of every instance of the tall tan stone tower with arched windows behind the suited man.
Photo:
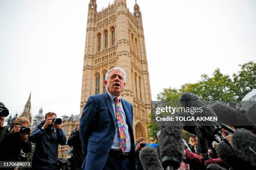
<svg viewBox="0 0 256 170">
<path fill-rule="evenodd" d="M 134 137 L 148 138 L 151 91 L 140 7 L 136 2 L 131 13 L 126 0 L 115 0 L 97 12 L 96 0 L 90 0 L 80 114 L 90 95 L 106 92 L 103 81 L 112 67 L 122 67 L 127 74 L 122 97 L 133 105 Z"/>
</svg>

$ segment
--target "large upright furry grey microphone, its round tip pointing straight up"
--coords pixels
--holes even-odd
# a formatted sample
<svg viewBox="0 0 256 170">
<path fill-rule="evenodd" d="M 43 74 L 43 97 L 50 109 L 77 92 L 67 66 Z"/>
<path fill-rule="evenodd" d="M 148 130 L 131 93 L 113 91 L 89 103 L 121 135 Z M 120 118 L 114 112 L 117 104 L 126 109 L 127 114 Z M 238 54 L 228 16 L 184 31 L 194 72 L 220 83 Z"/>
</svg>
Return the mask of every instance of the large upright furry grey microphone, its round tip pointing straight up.
<svg viewBox="0 0 256 170">
<path fill-rule="evenodd" d="M 172 125 L 161 126 L 160 154 L 164 169 L 175 170 L 179 168 L 183 160 L 182 126 L 181 122 L 172 122 Z"/>
</svg>

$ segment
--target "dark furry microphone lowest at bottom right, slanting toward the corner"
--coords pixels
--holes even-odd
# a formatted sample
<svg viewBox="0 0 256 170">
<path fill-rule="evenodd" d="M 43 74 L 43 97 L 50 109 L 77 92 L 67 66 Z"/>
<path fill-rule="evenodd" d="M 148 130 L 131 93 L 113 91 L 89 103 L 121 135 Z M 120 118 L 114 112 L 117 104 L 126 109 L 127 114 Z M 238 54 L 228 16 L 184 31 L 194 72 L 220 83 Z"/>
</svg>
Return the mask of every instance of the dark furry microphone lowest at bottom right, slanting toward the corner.
<svg viewBox="0 0 256 170">
<path fill-rule="evenodd" d="M 231 146 L 234 152 L 225 142 L 220 142 L 216 148 L 218 157 L 232 167 L 233 170 L 253 170 L 248 158 L 234 145 Z"/>
</svg>

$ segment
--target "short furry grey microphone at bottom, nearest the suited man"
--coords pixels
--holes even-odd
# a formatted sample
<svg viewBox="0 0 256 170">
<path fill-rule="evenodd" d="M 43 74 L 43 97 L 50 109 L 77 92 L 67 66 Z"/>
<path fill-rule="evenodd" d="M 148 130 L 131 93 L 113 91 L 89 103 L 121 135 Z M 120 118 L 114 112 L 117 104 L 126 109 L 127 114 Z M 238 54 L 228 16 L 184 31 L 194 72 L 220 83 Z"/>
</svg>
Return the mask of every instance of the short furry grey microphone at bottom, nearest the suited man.
<svg viewBox="0 0 256 170">
<path fill-rule="evenodd" d="M 139 157 L 144 170 L 164 170 L 156 150 L 151 146 L 142 148 Z"/>
</svg>

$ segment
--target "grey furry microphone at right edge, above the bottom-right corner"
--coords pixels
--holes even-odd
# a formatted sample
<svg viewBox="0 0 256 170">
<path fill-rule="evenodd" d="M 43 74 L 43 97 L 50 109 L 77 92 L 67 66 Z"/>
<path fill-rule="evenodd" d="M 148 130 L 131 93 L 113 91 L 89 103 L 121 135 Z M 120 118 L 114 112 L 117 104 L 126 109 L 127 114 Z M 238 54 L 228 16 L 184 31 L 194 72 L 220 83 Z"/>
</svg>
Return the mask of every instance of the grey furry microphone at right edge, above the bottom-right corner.
<svg viewBox="0 0 256 170">
<path fill-rule="evenodd" d="M 244 155 L 248 156 L 251 164 L 256 169 L 256 155 L 249 149 L 256 151 L 256 135 L 243 128 L 238 129 L 232 136 L 232 143 L 239 148 Z"/>
</svg>

